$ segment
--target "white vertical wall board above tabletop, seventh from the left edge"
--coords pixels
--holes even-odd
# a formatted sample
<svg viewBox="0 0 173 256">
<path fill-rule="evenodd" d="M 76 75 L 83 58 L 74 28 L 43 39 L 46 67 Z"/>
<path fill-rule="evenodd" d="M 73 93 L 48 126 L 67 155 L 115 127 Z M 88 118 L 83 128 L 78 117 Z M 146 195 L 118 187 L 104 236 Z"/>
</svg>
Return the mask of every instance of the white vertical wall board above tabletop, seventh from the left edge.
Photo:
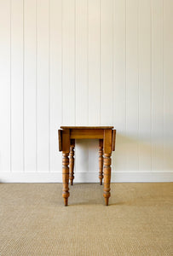
<svg viewBox="0 0 173 256">
<path fill-rule="evenodd" d="M 88 5 L 76 1 L 76 125 L 88 125 Z"/>
</svg>

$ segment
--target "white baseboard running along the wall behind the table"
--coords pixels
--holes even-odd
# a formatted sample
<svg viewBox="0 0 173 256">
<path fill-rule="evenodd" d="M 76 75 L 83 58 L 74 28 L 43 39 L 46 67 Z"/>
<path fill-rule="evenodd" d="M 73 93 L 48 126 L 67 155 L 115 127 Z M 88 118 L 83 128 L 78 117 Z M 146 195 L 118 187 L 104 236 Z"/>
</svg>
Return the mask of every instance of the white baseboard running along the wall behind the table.
<svg viewBox="0 0 173 256">
<path fill-rule="evenodd" d="M 61 183 L 61 172 L 0 172 L 0 183 Z M 77 172 L 74 183 L 98 183 L 98 172 Z M 112 172 L 112 183 L 173 182 L 173 172 Z"/>
</svg>

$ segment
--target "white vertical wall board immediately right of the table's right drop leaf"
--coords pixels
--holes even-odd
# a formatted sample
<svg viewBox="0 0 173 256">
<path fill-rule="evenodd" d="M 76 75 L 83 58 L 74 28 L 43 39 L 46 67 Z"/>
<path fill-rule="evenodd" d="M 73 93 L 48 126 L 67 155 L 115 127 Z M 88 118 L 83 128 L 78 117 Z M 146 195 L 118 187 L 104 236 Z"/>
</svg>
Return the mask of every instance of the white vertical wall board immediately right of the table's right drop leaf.
<svg viewBox="0 0 173 256">
<path fill-rule="evenodd" d="M 117 148 L 112 157 L 112 169 L 126 170 L 125 125 L 126 125 L 126 3 L 113 4 L 113 125 L 117 129 Z"/>
</svg>

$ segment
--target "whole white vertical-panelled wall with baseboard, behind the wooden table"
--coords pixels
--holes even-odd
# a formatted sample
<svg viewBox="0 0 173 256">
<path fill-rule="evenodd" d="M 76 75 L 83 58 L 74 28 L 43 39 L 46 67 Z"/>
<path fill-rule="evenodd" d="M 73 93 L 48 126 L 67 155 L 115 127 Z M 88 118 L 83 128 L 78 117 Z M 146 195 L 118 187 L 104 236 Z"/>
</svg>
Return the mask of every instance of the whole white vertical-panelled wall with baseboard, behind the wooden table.
<svg viewBox="0 0 173 256">
<path fill-rule="evenodd" d="M 172 0 L 0 0 L 0 73 L 1 182 L 61 182 L 60 125 L 116 127 L 114 182 L 173 179 Z"/>
</svg>

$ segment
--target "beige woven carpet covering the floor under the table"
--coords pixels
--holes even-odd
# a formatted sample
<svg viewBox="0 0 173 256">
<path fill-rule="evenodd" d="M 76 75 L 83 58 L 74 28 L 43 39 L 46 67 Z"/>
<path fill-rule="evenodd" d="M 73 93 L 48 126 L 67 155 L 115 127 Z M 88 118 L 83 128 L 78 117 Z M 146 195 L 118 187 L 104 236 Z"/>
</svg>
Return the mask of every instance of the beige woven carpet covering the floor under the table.
<svg viewBox="0 0 173 256">
<path fill-rule="evenodd" d="M 173 255 L 173 184 L 0 183 L 0 255 Z"/>
</svg>

